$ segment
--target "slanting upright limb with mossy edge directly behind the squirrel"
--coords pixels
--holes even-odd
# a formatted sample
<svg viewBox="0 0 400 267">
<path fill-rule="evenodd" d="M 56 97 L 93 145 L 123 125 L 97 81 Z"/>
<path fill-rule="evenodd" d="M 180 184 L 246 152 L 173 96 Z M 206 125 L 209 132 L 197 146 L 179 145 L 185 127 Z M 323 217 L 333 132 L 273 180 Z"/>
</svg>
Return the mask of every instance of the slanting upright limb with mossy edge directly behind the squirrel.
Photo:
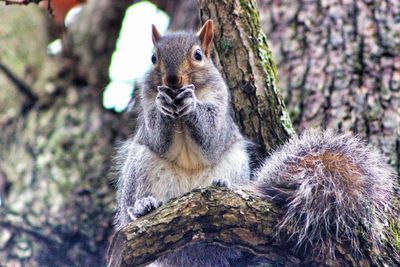
<svg viewBox="0 0 400 267">
<path fill-rule="evenodd" d="M 215 23 L 215 62 L 231 89 L 234 118 L 262 158 L 294 134 L 255 1 L 200 0 Z"/>
</svg>

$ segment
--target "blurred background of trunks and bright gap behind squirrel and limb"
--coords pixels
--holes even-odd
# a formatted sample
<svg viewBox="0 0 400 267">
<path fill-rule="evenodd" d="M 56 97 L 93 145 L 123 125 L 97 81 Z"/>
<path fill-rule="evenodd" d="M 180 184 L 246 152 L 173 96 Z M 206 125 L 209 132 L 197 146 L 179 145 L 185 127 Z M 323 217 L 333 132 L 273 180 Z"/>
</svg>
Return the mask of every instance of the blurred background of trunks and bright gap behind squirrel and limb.
<svg viewBox="0 0 400 267">
<path fill-rule="evenodd" d="M 257 2 L 297 132 L 360 135 L 399 172 L 400 1 Z M 194 0 L 51 4 L 0 1 L 0 266 L 105 264 L 151 24 L 200 24 Z"/>
</svg>

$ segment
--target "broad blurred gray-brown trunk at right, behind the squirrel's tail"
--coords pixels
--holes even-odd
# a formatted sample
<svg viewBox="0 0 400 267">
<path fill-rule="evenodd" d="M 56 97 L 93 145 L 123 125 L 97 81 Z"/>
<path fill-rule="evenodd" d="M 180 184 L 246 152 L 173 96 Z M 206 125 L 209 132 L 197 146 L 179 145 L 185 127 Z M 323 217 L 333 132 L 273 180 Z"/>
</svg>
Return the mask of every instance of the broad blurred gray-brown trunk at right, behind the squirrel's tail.
<svg viewBox="0 0 400 267">
<path fill-rule="evenodd" d="M 358 134 L 400 173 L 400 1 L 259 5 L 296 128 Z"/>
</svg>

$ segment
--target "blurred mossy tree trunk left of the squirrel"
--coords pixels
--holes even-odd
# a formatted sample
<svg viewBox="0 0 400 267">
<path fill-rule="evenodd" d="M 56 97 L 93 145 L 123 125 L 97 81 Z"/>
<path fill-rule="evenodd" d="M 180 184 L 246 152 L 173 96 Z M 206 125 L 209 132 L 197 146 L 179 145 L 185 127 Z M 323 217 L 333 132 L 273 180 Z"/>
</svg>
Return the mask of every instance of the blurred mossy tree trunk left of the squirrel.
<svg viewBox="0 0 400 267">
<path fill-rule="evenodd" d="M 121 131 L 119 117 L 102 108 L 100 92 L 129 4 L 90 1 L 80 21 L 85 27 L 68 33 L 79 47 L 44 59 L 35 82 L 28 81 L 39 96 L 35 105 L 23 114 L 15 101 L 17 112 L 0 114 L 2 266 L 104 265 L 114 213 L 106 173 Z M 14 88 L 5 90 L 4 103 Z"/>
</svg>

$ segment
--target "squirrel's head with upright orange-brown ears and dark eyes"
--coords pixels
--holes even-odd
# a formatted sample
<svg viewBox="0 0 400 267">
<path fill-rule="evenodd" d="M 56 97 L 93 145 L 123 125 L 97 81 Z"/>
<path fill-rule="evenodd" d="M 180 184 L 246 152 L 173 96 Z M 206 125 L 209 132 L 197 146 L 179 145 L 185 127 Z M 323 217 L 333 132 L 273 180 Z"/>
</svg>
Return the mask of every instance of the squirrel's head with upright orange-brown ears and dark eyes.
<svg viewBox="0 0 400 267">
<path fill-rule="evenodd" d="M 152 27 L 153 82 L 176 89 L 188 84 L 201 87 L 199 83 L 207 78 L 204 75 L 209 73 L 210 66 L 214 68 L 210 58 L 214 37 L 212 20 L 207 20 L 197 33 L 172 32 L 161 36 Z"/>
</svg>

